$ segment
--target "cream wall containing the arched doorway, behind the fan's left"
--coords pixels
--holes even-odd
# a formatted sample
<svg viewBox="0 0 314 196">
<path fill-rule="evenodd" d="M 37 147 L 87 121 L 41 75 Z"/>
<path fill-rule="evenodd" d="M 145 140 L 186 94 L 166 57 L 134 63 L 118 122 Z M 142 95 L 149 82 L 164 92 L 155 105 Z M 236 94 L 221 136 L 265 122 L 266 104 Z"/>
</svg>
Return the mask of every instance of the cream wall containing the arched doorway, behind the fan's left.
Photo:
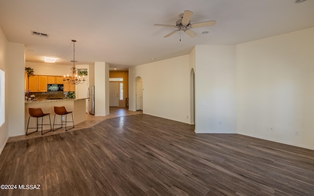
<svg viewBox="0 0 314 196">
<path fill-rule="evenodd" d="M 129 109 L 135 111 L 135 78 L 143 80 L 143 113 L 189 123 L 189 55 L 129 69 Z"/>
</svg>

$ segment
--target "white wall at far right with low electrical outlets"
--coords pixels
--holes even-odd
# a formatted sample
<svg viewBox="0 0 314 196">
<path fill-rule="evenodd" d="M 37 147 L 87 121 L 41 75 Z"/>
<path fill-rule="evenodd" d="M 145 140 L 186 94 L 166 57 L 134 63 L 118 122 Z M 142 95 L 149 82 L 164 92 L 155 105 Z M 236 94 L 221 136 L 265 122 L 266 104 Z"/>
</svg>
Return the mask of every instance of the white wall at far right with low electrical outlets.
<svg viewBox="0 0 314 196">
<path fill-rule="evenodd" d="M 238 133 L 314 149 L 314 28 L 236 49 Z"/>
</svg>

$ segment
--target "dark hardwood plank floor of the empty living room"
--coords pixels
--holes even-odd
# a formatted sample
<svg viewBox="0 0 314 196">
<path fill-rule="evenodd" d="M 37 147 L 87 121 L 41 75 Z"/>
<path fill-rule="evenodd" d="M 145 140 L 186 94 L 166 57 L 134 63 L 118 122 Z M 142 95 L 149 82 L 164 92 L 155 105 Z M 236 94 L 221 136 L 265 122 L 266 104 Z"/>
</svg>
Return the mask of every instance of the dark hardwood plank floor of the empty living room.
<svg viewBox="0 0 314 196">
<path fill-rule="evenodd" d="M 8 143 L 0 196 L 314 196 L 314 151 L 145 114 Z"/>
</svg>

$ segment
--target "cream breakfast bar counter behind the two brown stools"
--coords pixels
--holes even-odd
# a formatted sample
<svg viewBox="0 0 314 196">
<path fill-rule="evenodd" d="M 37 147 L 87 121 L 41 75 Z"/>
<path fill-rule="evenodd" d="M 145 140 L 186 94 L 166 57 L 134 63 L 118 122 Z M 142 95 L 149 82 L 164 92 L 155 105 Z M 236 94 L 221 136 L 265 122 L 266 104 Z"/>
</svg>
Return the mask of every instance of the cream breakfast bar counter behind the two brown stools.
<svg viewBox="0 0 314 196">
<path fill-rule="evenodd" d="M 86 99 L 73 99 L 73 98 L 63 98 L 63 99 L 40 99 L 40 100 L 31 100 L 25 101 L 25 133 L 28 122 L 28 108 L 38 108 L 40 107 L 44 113 L 50 113 L 51 124 L 53 124 L 54 118 L 54 106 L 64 106 L 67 111 L 73 111 L 74 124 L 81 123 L 86 120 Z M 70 117 L 70 116 L 69 116 Z M 41 121 L 41 119 L 40 119 Z M 49 124 L 49 119 L 43 119 L 44 124 Z M 56 115 L 55 124 L 61 124 L 61 117 Z M 68 126 L 71 126 L 72 123 L 67 123 Z M 29 127 L 36 127 L 36 118 L 30 118 Z M 57 127 L 60 127 L 58 125 Z M 49 125 L 44 125 L 43 130 L 50 129 Z M 32 132 L 35 129 L 29 130 Z M 28 132 L 29 132 L 28 131 Z M 39 130 L 40 131 L 40 130 Z"/>
</svg>

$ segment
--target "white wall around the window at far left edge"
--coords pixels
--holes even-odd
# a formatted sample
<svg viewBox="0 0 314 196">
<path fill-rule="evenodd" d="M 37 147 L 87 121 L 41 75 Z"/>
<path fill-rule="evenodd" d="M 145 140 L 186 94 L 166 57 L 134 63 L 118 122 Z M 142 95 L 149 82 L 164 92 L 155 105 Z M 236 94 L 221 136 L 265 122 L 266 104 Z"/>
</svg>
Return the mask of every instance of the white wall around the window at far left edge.
<svg viewBox="0 0 314 196">
<path fill-rule="evenodd" d="M 8 41 L 4 36 L 1 28 L 0 28 L 0 69 L 5 72 L 5 123 L 0 127 L 0 153 L 3 147 L 6 144 L 7 139 L 9 138 L 9 129 L 8 129 L 8 111 L 9 111 L 9 104 L 8 104 Z"/>
</svg>

